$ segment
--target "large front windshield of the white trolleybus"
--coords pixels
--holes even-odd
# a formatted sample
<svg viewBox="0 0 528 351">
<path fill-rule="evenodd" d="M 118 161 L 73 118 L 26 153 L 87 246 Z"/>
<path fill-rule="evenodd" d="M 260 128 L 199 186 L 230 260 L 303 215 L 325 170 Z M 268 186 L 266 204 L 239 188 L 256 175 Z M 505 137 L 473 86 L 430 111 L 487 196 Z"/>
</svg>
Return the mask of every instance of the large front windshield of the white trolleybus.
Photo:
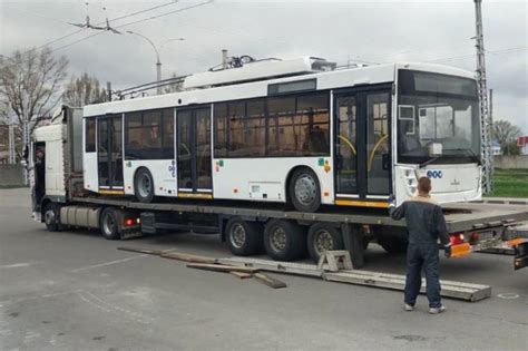
<svg viewBox="0 0 528 351">
<path fill-rule="evenodd" d="M 399 163 L 479 163 L 479 106 L 473 79 L 400 70 L 398 85 Z"/>
</svg>

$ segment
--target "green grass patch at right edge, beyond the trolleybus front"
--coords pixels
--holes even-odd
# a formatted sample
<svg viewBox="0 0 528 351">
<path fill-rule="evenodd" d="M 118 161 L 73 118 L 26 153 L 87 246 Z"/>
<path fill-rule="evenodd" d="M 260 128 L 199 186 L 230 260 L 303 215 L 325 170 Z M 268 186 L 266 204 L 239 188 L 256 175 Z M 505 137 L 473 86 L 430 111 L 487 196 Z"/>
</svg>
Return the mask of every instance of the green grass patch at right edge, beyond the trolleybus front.
<svg viewBox="0 0 528 351">
<path fill-rule="evenodd" d="M 495 189 L 486 196 L 528 198 L 528 169 L 495 169 Z"/>
</svg>

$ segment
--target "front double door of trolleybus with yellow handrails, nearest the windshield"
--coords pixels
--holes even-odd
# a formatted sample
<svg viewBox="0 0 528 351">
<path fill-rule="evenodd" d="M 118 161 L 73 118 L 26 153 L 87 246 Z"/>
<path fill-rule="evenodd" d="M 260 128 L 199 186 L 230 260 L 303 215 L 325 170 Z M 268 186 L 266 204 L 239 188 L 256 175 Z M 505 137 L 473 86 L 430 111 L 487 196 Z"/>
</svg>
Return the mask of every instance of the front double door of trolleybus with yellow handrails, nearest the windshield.
<svg viewBox="0 0 528 351">
<path fill-rule="evenodd" d="M 369 205 L 390 194 L 390 90 L 334 95 L 335 203 Z"/>
</svg>

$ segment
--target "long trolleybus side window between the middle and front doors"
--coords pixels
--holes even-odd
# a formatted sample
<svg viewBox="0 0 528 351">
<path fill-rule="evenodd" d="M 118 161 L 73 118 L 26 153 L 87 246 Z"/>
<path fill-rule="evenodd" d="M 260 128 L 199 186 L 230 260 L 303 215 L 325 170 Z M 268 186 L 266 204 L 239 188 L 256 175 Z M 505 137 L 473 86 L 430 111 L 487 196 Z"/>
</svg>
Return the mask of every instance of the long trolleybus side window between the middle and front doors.
<svg viewBox="0 0 528 351">
<path fill-rule="evenodd" d="M 217 104 L 215 157 L 330 154 L 329 95 Z"/>
</svg>

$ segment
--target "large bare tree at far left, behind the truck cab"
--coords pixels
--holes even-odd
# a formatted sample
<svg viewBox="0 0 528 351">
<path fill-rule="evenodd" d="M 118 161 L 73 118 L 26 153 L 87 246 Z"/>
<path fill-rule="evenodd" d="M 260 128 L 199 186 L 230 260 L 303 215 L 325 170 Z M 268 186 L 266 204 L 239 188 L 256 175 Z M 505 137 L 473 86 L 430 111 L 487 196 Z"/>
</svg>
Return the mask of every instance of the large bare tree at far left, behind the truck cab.
<svg viewBox="0 0 528 351">
<path fill-rule="evenodd" d="M 32 134 L 42 118 L 50 117 L 60 99 L 68 60 L 55 58 L 49 48 L 17 50 L 0 57 L 0 111 L 6 120 L 14 116 L 14 139 L 19 158 L 23 150 L 23 124 Z"/>
</svg>

